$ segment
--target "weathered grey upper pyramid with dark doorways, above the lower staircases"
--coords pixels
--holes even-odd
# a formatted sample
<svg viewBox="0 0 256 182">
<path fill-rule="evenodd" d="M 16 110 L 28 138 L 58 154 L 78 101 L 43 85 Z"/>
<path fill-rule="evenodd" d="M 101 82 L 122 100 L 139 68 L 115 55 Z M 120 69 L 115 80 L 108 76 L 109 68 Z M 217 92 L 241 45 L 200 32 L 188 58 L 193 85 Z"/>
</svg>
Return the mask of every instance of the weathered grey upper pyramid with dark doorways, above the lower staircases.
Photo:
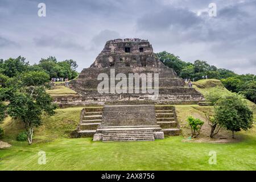
<svg viewBox="0 0 256 182">
<path fill-rule="evenodd" d="M 98 93 L 97 86 L 102 81 L 97 80 L 98 75 L 106 73 L 110 78 L 111 69 L 115 69 L 115 76 L 124 73 L 127 82 L 129 73 L 158 73 L 159 95 L 152 99 L 155 102 L 203 100 L 199 92 L 185 86 L 173 69 L 164 66 L 147 40 L 115 39 L 106 42 L 90 68 L 84 69 L 76 80 L 71 81 L 72 88 L 80 94 L 82 102 L 151 100 L 151 93 Z M 115 84 L 118 82 L 115 80 Z"/>
</svg>

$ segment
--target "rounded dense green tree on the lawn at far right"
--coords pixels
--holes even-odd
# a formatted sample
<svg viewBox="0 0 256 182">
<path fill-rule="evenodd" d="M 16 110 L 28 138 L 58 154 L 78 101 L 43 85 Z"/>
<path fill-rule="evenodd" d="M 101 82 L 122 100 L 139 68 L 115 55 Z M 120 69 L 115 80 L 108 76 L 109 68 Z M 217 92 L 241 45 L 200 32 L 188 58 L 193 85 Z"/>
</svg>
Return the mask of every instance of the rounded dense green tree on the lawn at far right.
<svg viewBox="0 0 256 182">
<path fill-rule="evenodd" d="M 238 94 L 220 98 L 214 110 L 214 118 L 220 125 L 232 131 L 233 138 L 234 131 L 248 130 L 253 126 L 253 112 Z"/>
</svg>

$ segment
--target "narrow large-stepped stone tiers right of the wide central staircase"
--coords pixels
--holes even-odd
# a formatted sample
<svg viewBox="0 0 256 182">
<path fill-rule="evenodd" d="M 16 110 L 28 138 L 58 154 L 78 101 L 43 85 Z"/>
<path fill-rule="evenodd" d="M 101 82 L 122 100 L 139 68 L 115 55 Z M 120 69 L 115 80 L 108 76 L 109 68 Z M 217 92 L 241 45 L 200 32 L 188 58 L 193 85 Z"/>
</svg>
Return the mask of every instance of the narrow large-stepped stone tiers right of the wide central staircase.
<svg viewBox="0 0 256 182">
<path fill-rule="evenodd" d="M 177 136 L 180 135 L 180 127 L 177 122 L 174 106 L 155 106 L 156 121 L 162 128 L 164 135 Z"/>
</svg>

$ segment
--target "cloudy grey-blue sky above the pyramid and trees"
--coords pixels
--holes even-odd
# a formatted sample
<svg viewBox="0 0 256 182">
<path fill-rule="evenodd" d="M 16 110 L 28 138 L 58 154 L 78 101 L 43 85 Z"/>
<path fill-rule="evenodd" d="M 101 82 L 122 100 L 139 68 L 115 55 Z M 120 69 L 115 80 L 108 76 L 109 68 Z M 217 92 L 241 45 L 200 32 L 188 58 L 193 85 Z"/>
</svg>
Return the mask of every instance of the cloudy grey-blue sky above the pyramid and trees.
<svg viewBox="0 0 256 182">
<path fill-rule="evenodd" d="M 38 16 L 41 2 L 46 17 Z M 114 38 L 148 39 L 154 52 L 256 74 L 256 1 L 0 0 L 1 59 L 22 55 L 32 64 L 52 55 L 81 71 Z"/>
</svg>

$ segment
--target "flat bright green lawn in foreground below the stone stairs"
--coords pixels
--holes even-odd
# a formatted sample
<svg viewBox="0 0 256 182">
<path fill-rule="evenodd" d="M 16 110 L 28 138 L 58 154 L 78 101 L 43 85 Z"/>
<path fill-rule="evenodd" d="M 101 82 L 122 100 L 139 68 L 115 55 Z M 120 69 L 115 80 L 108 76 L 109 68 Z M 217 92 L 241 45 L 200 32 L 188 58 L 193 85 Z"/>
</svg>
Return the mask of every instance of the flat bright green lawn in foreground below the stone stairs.
<svg viewBox="0 0 256 182">
<path fill-rule="evenodd" d="M 0 150 L 0 170 L 256 170 L 255 136 L 228 144 L 182 139 L 121 143 L 58 139 L 32 146 L 16 142 Z M 38 164 L 40 150 L 46 152 L 46 165 Z M 209 165 L 209 151 L 217 152 L 216 165 Z"/>
</svg>

